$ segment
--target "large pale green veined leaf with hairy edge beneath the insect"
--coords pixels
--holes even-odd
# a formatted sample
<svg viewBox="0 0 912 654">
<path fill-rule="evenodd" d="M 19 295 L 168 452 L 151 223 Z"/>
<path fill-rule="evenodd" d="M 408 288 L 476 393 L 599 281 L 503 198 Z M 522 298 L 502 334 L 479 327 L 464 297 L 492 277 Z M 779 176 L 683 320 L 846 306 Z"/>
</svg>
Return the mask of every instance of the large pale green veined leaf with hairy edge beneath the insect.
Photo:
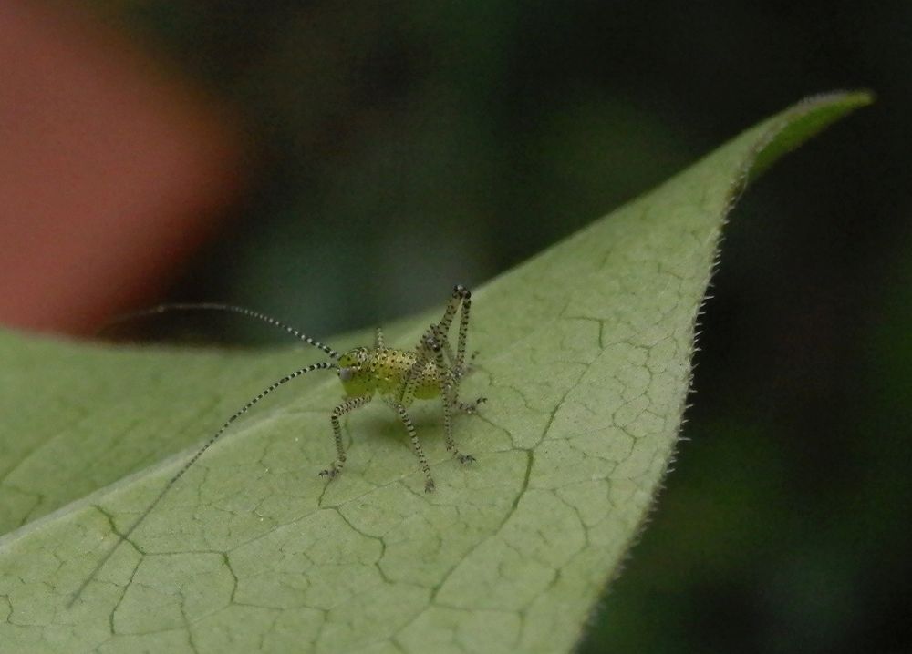
<svg viewBox="0 0 912 654">
<path fill-rule="evenodd" d="M 414 411 L 436 493 L 381 403 L 347 421 L 345 473 L 320 479 L 341 389 L 307 374 L 233 424 L 71 606 L 201 441 L 317 352 L 0 333 L 0 649 L 571 649 L 673 454 L 734 199 L 869 101 L 806 100 L 477 289 L 462 393 L 489 401 L 456 437 L 478 462 L 447 455 L 438 403 Z"/>
</svg>

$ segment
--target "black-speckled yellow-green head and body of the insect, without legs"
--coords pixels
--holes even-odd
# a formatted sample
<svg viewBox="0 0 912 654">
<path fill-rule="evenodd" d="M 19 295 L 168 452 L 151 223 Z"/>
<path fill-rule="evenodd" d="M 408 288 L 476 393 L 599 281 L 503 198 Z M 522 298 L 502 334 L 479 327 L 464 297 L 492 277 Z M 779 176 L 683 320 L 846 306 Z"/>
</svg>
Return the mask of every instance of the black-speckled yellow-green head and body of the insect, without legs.
<svg viewBox="0 0 912 654">
<path fill-rule="evenodd" d="M 418 370 L 412 373 L 416 364 Z M 340 375 L 342 387 L 348 397 L 379 393 L 385 399 L 402 406 L 412 401 L 439 397 L 447 383 L 454 383 L 447 367 L 440 367 L 434 360 L 419 363 L 418 353 L 389 347 L 357 347 L 339 357 L 339 367 L 351 371 L 346 381 Z M 411 393 L 406 391 L 409 374 L 414 374 Z"/>
</svg>

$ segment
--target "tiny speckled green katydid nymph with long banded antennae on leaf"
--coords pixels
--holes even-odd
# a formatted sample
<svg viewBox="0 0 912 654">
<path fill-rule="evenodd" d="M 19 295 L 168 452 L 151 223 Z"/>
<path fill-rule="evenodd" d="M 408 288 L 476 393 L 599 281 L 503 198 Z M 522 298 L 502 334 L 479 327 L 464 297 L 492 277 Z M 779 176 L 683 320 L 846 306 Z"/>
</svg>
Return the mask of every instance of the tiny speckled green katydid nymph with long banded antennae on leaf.
<svg viewBox="0 0 912 654">
<path fill-rule="evenodd" d="M 378 328 L 373 347 L 356 347 L 346 353 L 337 353 L 336 350 L 325 345 L 322 342 L 299 332 L 294 327 L 290 327 L 284 322 L 275 320 L 264 313 L 254 312 L 244 307 L 232 306 L 229 304 L 161 304 L 152 309 L 141 312 L 130 313 L 122 317 L 117 322 L 131 320 L 171 311 L 197 311 L 211 310 L 221 312 L 233 312 L 241 315 L 255 318 L 267 322 L 275 327 L 285 330 L 296 338 L 313 345 L 319 350 L 329 355 L 331 361 L 312 363 L 304 368 L 296 370 L 294 373 L 286 374 L 281 379 L 271 383 L 263 391 L 251 398 L 244 406 L 238 409 L 219 430 L 210 437 L 208 441 L 192 455 L 192 457 L 181 466 L 177 474 L 171 477 L 168 484 L 161 489 L 158 496 L 150 503 L 149 506 L 140 514 L 122 536 L 112 547 L 108 554 L 98 563 L 92 574 L 78 588 L 73 596 L 70 606 L 76 601 L 82 591 L 88 586 L 98 571 L 105 565 L 114 551 L 123 541 L 127 540 L 138 526 L 146 519 L 161 502 L 161 499 L 171 490 L 171 487 L 191 468 L 193 464 L 219 439 L 228 427 L 239 417 L 246 414 L 254 404 L 259 403 L 266 395 L 272 393 L 279 386 L 284 385 L 306 373 L 312 373 L 315 370 L 334 370 L 338 374 L 339 381 L 345 390 L 346 396 L 342 404 L 333 409 L 330 414 L 330 423 L 333 428 L 333 437 L 336 441 L 336 460 L 328 465 L 326 469 L 320 472 L 321 476 L 333 479 L 342 472 L 346 463 L 346 451 L 342 442 L 342 426 L 339 422 L 344 415 L 368 404 L 375 395 L 380 395 L 383 402 L 389 404 L 399 415 L 399 420 L 405 426 L 409 434 L 412 448 L 415 455 L 420 461 L 421 470 L 424 472 L 424 490 L 428 493 L 434 490 L 434 479 L 430 475 L 430 465 L 421 448 L 418 434 L 415 431 L 415 425 L 412 424 L 409 417 L 408 408 L 415 400 L 430 400 L 440 398 L 440 404 L 443 407 L 443 432 L 446 440 L 447 450 L 455 456 L 461 463 L 468 464 L 475 460 L 472 455 L 463 455 L 456 448 L 452 434 L 452 414 L 454 411 L 460 411 L 466 414 L 474 414 L 479 404 L 485 401 L 485 398 L 479 397 L 471 403 L 461 402 L 459 399 L 459 387 L 462 378 L 469 372 L 470 364 L 474 354 L 466 359 L 466 336 L 469 331 L 469 310 L 472 306 L 472 293 L 461 285 L 453 288 L 450 301 L 447 302 L 446 309 L 440 322 L 435 322 L 421 336 L 414 350 L 396 350 L 386 347 L 383 343 L 383 332 Z M 459 313 L 459 332 L 456 341 L 456 351 L 452 350 L 450 344 L 451 324 Z"/>
</svg>

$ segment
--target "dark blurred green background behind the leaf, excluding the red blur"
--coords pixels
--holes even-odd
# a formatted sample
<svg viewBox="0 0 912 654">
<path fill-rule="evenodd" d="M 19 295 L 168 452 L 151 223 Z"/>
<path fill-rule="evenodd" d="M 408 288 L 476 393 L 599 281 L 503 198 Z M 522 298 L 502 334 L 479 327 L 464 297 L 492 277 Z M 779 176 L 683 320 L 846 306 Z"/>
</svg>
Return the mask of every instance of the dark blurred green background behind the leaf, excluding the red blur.
<svg viewBox="0 0 912 654">
<path fill-rule="evenodd" d="M 87 6 L 243 118 L 248 192 L 170 299 L 317 336 L 439 305 L 800 97 L 872 88 L 733 212 L 688 440 L 580 650 L 912 650 L 912 4 Z"/>
</svg>

